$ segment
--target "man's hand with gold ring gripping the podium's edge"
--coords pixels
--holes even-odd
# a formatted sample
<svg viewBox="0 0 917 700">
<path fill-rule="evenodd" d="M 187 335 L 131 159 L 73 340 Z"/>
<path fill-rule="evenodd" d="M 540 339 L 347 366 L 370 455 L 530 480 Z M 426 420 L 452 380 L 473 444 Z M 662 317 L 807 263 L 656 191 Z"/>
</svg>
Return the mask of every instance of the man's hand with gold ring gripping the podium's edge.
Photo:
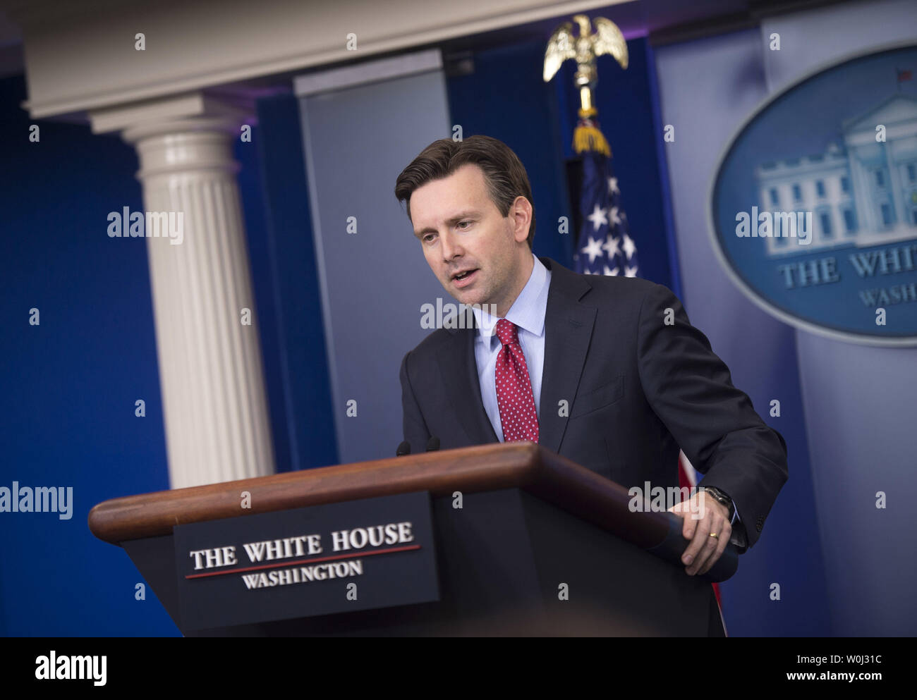
<svg viewBox="0 0 917 700">
<path fill-rule="evenodd" d="M 698 491 L 690 500 L 672 506 L 668 511 L 684 519 L 681 534 L 685 540 L 691 540 L 681 555 L 685 572 L 691 576 L 706 574 L 723 555 L 732 536 L 729 509 L 716 498 Z M 711 532 L 716 537 L 711 536 Z"/>
</svg>

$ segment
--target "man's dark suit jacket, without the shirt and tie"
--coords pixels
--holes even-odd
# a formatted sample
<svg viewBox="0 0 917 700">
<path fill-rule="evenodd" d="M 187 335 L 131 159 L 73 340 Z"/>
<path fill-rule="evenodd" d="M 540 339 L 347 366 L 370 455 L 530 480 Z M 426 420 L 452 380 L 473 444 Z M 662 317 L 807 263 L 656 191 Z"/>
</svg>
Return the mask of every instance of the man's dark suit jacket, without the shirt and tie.
<svg viewBox="0 0 917 700">
<path fill-rule="evenodd" d="M 679 300 L 645 279 L 579 275 L 547 257 L 538 443 L 624 487 L 678 487 L 679 446 L 735 502 L 747 546 L 787 480 L 786 443 L 735 388 Z M 666 310 L 674 323 L 666 322 Z M 477 329 L 440 328 L 404 355 L 404 439 L 414 454 L 499 442 L 481 402 Z M 561 415 L 566 400 L 569 416 Z M 743 528 L 736 520 L 736 534 Z M 740 552 L 745 552 L 740 547 Z"/>
</svg>

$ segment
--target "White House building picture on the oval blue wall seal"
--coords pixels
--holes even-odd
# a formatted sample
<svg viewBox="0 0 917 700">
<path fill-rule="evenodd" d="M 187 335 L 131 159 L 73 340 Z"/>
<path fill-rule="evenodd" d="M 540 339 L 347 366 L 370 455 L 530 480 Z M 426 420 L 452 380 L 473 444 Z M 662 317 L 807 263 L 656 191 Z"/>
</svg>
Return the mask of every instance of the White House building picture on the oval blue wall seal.
<svg viewBox="0 0 917 700">
<path fill-rule="evenodd" d="M 885 141 L 877 141 L 884 126 Z M 755 170 L 760 211 L 812 212 L 812 243 L 779 230 L 768 256 L 917 237 L 917 98 L 896 93 L 841 126 L 844 145 Z"/>
</svg>

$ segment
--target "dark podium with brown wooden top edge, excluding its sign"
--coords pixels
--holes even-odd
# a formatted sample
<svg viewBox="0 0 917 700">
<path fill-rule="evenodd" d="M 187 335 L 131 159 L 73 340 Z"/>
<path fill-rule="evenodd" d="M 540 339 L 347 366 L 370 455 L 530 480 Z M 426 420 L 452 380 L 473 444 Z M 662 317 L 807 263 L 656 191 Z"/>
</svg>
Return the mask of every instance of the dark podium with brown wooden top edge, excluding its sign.
<svg viewBox="0 0 917 700">
<path fill-rule="evenodd" d="M 416 491 L 432 502 L 439 601 L 182 626 L 174 525 Z M 711 582 L 735 573 L 735 547 L 706 576 L 689 576 L 682 520 L 632 512 L 630 500 L 534 443 L 497 443 L 114 498 L 92 509 L 89 528 L 127 551 L 186 636 L 723 636 Z"/>
</svg>

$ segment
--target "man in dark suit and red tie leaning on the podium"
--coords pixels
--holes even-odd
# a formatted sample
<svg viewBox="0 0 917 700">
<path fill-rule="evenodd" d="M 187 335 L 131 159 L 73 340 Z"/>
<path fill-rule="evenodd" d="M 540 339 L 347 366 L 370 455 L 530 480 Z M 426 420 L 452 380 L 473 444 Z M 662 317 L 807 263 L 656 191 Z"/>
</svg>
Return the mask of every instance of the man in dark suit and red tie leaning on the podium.
<svg viewBox="0 0 917 700">
<path fill-rule="evenodd" d="M 706 573 L 730 539 L 740 552 L 757 541 L 787 480 L 786 443 L 668 289 L 537 258 L 528 176 L 494 138 L 435 141 L 395 196 L 443 288 L 481 305 L 478 327 L 439 329 L 404 356 L 412 451 L 431 436 L 443 449 L 531 440 L 624 487 L 668 492 L 680 447 L 713 497 L 669 509 L 684 518 L 686 572 Z"/>
</svg>

